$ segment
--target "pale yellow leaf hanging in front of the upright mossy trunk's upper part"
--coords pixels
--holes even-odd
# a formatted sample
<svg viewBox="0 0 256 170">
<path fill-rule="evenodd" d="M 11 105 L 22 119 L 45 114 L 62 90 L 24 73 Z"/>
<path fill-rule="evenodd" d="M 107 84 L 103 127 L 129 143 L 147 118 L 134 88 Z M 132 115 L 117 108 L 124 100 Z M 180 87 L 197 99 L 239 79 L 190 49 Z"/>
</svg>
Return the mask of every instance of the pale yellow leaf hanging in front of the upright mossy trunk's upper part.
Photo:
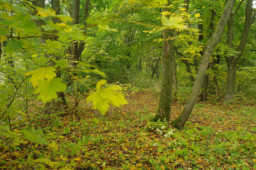
<svg viewBox="0 0 256 170">
<path fill-rule="evenodd" d="M 169 28 L 187 29 L 187 25 L 182 24 L 182 16 L 171 16 L 169 19 L 166 16 L 162 16 L 162 25 Z"/>
</svg>

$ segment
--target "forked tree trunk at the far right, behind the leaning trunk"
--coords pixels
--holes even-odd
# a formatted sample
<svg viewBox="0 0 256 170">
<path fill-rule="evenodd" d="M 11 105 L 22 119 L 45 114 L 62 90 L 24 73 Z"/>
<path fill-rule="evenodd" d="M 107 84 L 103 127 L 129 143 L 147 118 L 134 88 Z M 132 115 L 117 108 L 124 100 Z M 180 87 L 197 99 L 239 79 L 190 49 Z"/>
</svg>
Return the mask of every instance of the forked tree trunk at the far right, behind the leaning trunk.
<svg viewBox="0 0 256 170">
<path fill-rule="evenodd" d="M 246 9 L 245 9 L 245 24 L 244 30 L 242 32 L 242 37 L 240 44 L 237 47 L 237 51 L 239 52 L 237 56 L 225 56 L 227 66 L 228 66 L 228 76 L 226 77 L 226 94 L 225 94 L 225 102 L 234 100 L 234 90 L 236 83 L 236 70 L 237 70 L 237 62 L 238 59 L 242 56 L 244 52 L 246 41 L 249 35 L 250 26 L 251 26 L 251 16 L 253 14 L 253 0 L 247 0 Z M 233 18 L 234 16 L 232 16 Z M 232 40 L 233 40 L 233 20 L 230 20 L 228 25 L 228 40 L 227 44 L 231 48 Z"/>
</svg>

